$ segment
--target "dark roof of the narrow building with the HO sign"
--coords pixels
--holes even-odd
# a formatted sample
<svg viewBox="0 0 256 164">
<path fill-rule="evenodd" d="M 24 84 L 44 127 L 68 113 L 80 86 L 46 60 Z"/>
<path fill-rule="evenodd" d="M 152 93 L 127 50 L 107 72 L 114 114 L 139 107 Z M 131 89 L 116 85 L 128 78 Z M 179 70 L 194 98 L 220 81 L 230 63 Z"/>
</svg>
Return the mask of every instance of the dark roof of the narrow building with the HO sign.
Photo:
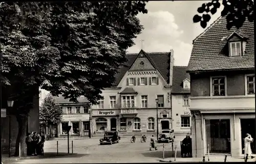
<svg viewBox="0 0 256 164">
<path fill-rule="evenodd" d="M 189 89 L 183 88 L 183 81 L 185 79 L 190 81 L 189 73 L 186 73 L 186 66 L 173 67 L 173 87 L 172 94 L 190 94 Z"/>
</svg>

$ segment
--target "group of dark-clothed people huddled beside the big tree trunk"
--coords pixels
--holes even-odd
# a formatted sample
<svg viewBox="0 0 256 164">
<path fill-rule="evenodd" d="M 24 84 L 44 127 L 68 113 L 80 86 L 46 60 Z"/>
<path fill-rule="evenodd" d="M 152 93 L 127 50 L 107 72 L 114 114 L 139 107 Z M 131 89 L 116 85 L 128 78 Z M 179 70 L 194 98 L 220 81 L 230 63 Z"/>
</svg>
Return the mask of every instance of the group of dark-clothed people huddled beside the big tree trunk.
<svg viewBox="0 0 256 164">
<path fill-rule="evenodd" d="M 27 155 L 44 155 L 45 135 L 43 133 L 28 133 L 26 138 Z"/>
</svg>

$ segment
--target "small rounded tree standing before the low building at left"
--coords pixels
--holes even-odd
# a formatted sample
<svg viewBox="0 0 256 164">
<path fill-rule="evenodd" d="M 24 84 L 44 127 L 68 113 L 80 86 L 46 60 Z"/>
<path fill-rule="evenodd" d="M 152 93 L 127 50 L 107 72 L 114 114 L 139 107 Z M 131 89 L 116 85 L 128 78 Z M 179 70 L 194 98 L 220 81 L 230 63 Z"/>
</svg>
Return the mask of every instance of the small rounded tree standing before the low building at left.
<svg viewBox="0 0 256 164">
<path fill-rule="evenodd" d="M 39 121 L 45 125 L 45 128 L 50 127 L 50 134 L 52 125 L 60 123 L 62 114 L 62 108 L 55 102 L 55 99 L 48 94 L 40 107 Z"/>
</svg>

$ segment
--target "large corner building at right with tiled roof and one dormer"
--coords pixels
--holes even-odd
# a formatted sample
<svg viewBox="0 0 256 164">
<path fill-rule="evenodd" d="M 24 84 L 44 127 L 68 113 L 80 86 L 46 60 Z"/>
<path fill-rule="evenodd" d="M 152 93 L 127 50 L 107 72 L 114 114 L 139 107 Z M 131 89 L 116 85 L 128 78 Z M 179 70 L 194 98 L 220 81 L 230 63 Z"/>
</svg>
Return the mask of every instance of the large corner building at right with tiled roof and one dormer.
<svg viewBox="0 0 256 164">
<path fill-rule="evenodd" d="M 246 133 L 255 139 L 254 24 L 226 29 L 218 18 L 194 40 L 187 67 L 193 156 L 242 156 Z M 209 145 L 209 146 L 207 146 Z M 255 153 L 255 140 L 251 144 Z"/>
</svg>

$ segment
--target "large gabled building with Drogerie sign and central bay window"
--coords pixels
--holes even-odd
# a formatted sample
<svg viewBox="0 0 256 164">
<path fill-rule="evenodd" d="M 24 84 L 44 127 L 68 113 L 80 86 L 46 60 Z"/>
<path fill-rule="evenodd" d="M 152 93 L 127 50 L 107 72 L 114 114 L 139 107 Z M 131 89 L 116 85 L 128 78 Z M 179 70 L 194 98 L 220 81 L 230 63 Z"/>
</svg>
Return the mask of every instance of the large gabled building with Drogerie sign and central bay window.
<svg viewBox="0 0 256 164">
<path fill-rule="evenodd" d="M 92 132 L 117 130 L 121 134 L 156 134 L 172 128 L 170 91 L 174 52 L 126 54 L 112 88 L 92 106 Z M 158 99 L 158 104 L 156 103 Z M 158 123 L 157 111 L 158 105 Z"/>
</svg>

